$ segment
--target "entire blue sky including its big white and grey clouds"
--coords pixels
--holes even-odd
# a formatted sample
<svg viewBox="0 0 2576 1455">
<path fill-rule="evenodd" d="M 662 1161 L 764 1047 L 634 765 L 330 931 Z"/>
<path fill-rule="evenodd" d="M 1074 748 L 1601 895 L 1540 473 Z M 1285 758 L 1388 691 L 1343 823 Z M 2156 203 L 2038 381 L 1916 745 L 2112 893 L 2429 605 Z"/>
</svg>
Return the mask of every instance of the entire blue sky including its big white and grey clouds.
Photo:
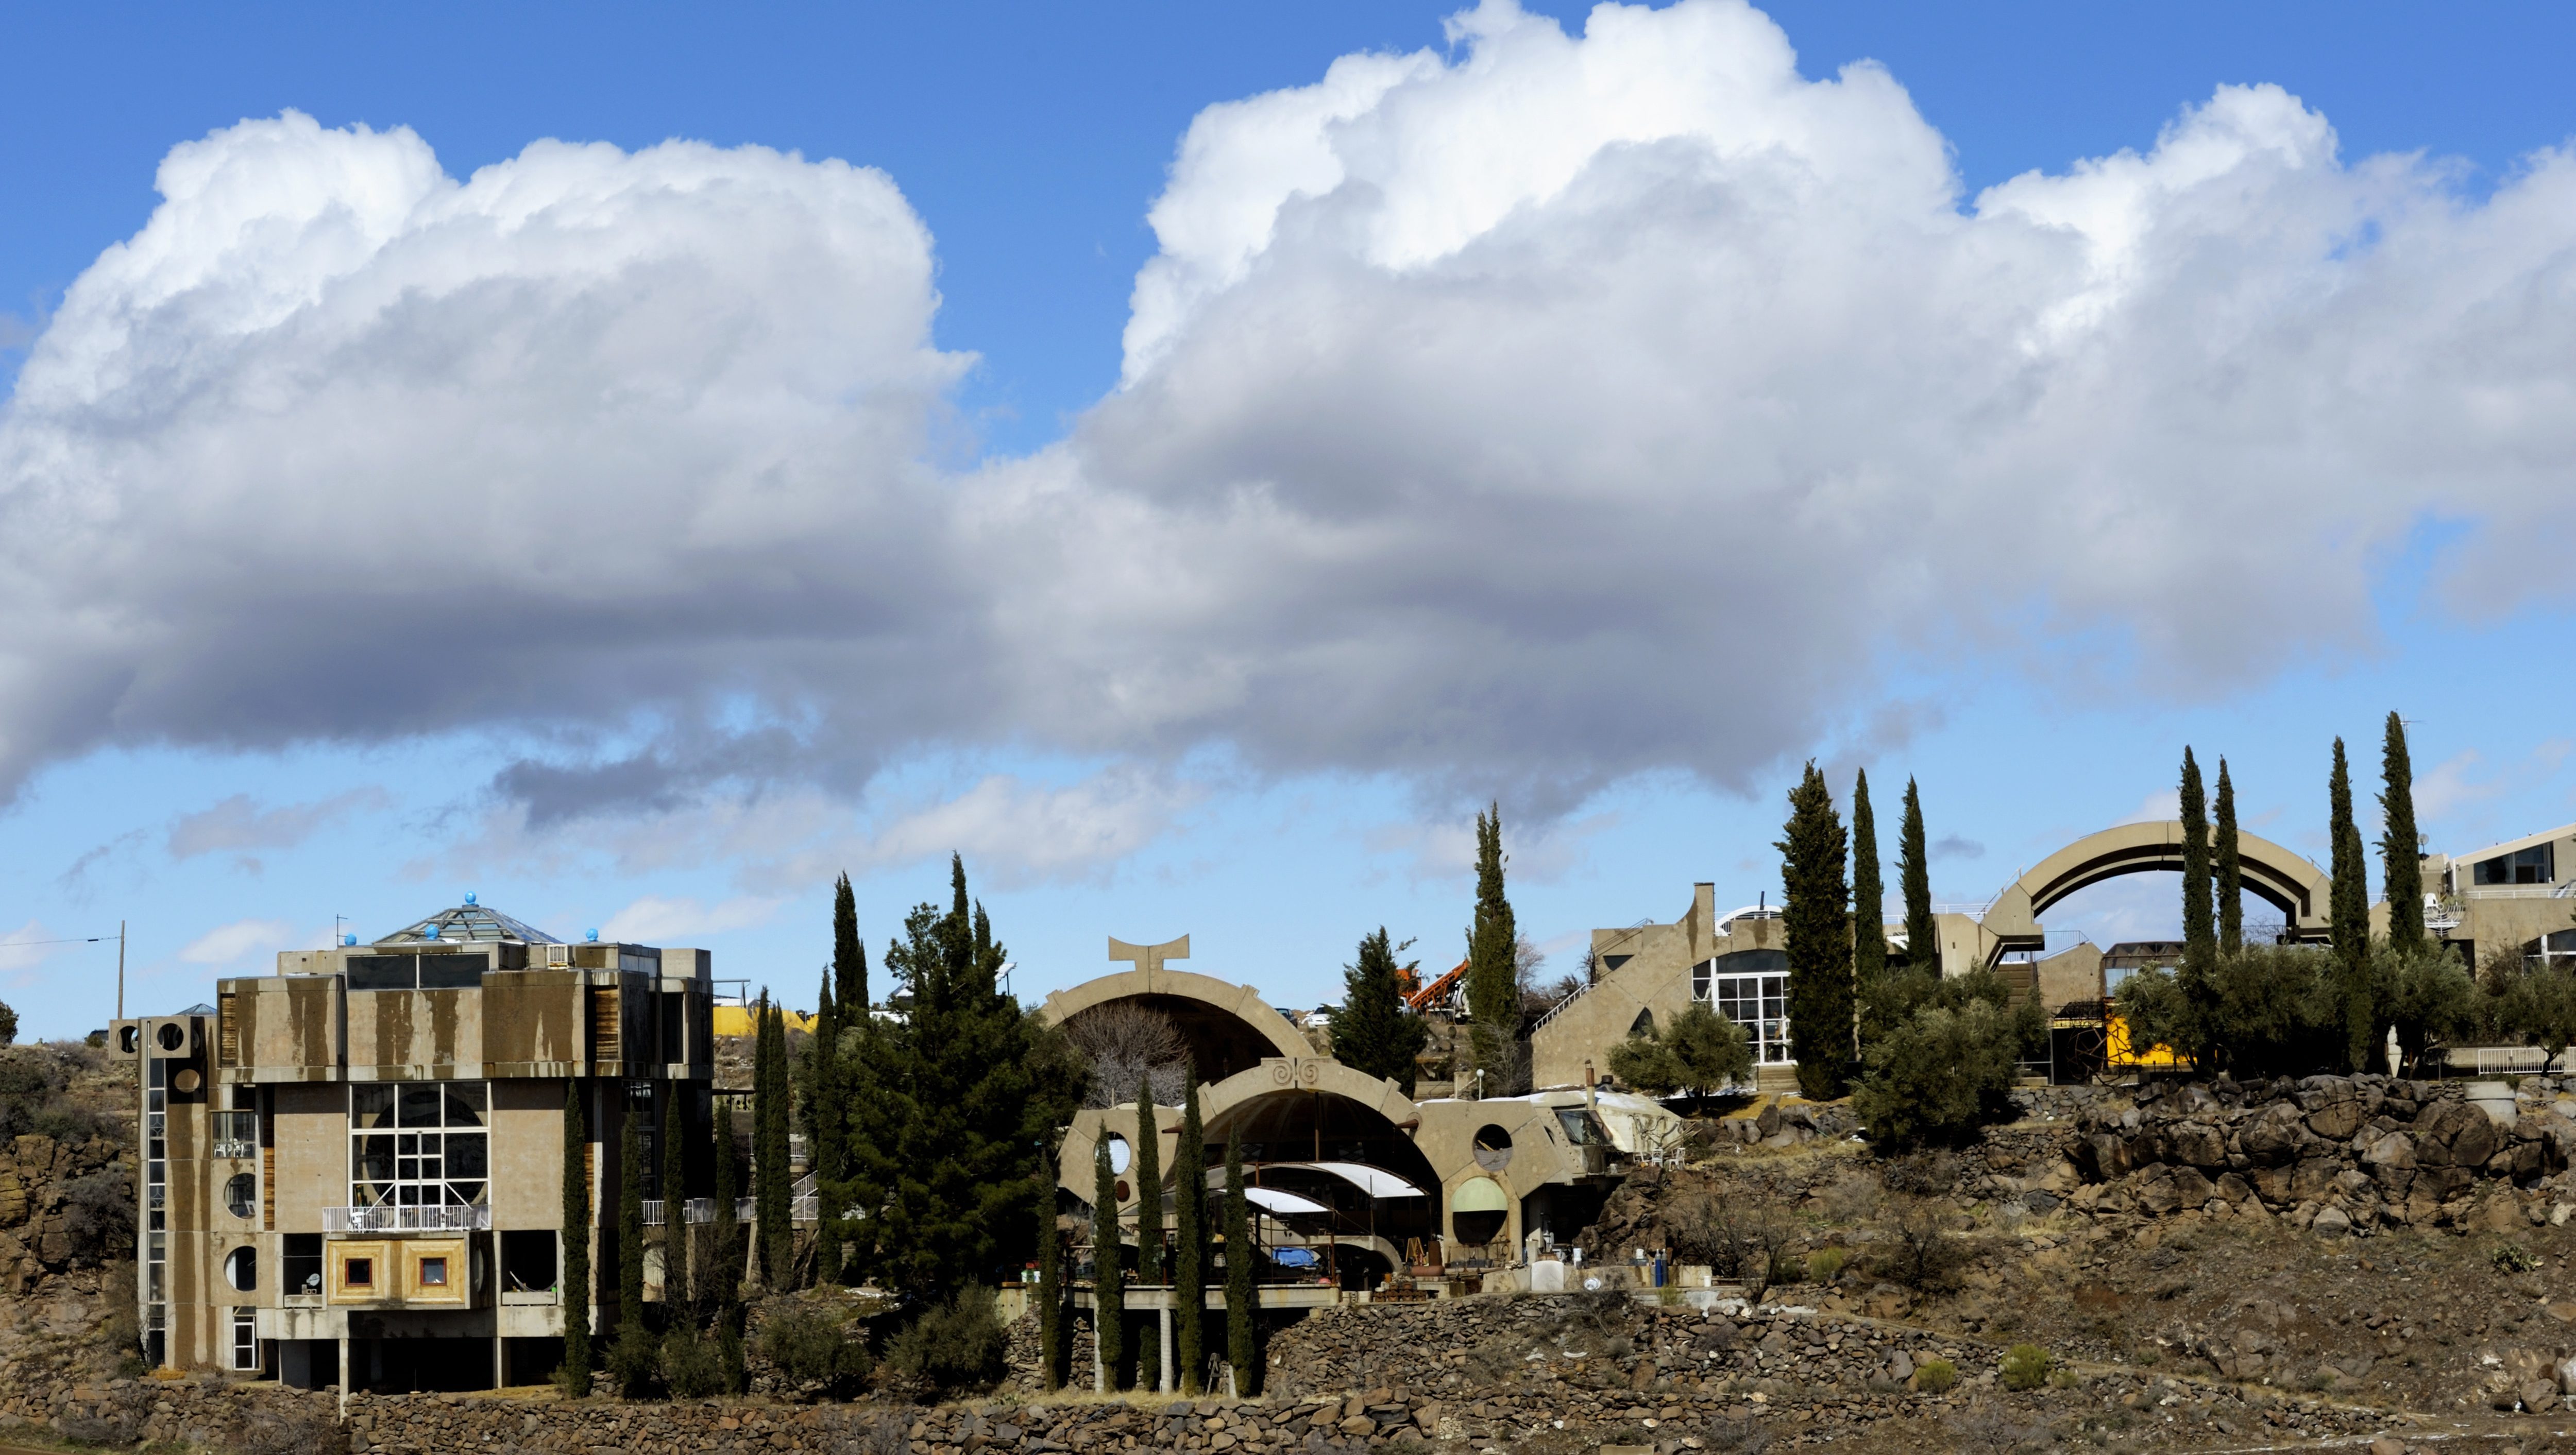
<svg viewBox="0 0 2576 1455">
<path fill-rule="evenodd" d="M 2530 162 L 2576 131 L 2576 21 L 1703 10 L 1631 49 L 1556 5 L 10 13 L 44 59 L 0 93 L 0 994 L 77 1033 L 113 955 L 33 940 L 126 919 L 134 1002 L 185 1004 L 479 891 L 801 999 L 827 876 L 881 943 L 953 845 L 1020 989 L 1190 932 L 1311 1004 L 1381 922 L 1455 953 L 1489 793 L 1571 968 L 1698 878 L 1772 888 L 1808 755 L 1888 821 L 1917 775 L 1937 894 L 1986 899 L 2154 811 L 2184 742 L 2321 852 L 2326 744 L 2375 773 L 2391 708 L 2439 847 L 2576 816 L 2576 224 Z M 1814 88 L 1860 59 L 1883 90 Z M 1494 180 L 1566 134 L 1566 175 Z M 216 180 L 147 234 L 185 144 Z M 440 214 L 422 165 L 611 196 L 585 258 L 649 268 Z M 706 178 L 755 201 L 708 224 Z M 626 577 L 667 587 L 574 585 Z"/>
</svg>

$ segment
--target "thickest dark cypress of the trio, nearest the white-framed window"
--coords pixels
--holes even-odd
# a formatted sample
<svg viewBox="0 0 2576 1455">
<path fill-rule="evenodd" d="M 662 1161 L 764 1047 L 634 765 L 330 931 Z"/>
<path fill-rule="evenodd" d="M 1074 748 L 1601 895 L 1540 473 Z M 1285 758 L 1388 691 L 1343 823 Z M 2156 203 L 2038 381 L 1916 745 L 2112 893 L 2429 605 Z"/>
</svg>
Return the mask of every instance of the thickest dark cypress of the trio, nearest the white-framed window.
<svg viewBox="0 0 2576 1455">
<path fill-rule="evenodd" d="M 1852 1061 L 1852 886 L 1842 814 L 1814 760 L 1790 788 L 1788 824 L 1772 847 L 1785 891 L 1790 1056 L 1798 1058 L 1798 1089 L 1824 1102 L 1844 1092 Z"/>
</svg>

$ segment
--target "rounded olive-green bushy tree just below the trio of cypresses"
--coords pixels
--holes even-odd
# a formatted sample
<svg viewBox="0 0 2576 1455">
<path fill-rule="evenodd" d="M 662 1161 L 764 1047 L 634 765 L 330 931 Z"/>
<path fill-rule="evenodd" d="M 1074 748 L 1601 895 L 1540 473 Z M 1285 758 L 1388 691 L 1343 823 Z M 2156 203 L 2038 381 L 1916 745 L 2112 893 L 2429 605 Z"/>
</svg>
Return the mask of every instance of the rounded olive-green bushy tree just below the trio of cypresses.
<svg viewBox="0 0 2576 1455">
<path fill-rule="evenodd" d="M 2038 991 L 2020 1004 L 1989 968 L 1958 979 L 1911 971 L 1906 997 L 1919 997 L 1878 1046 L 1870 1046 L 1852 1112 L 1883 1146 L 1965 1141 L 1976 1128 L 2012 1120 L 2020 1064 L 2048 1043 Z"/>
</svg>

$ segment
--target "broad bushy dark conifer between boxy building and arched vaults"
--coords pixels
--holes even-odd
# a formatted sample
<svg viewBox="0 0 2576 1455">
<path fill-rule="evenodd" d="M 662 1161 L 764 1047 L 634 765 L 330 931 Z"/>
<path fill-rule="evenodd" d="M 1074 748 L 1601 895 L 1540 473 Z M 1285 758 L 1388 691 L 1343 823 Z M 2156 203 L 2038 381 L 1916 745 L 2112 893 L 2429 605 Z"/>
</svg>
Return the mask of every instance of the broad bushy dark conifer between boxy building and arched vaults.
<svg viewBox="0 0 2576 1455">
<path fill-rule="evenodd" d="M 878 1285 L 948 1298 L 1030 1252 L 1038 1149 L 1072 1120 L 1082 1064 L 1059 1030 L 1002 994 L 1007 961 L 951 858 L 951 904 L 917 904 L 884 966 L 912 1004 L 863 1028 L 845 1058 L 850 1203 L 868 1210 L 845 1257 Z"/>
</svg>

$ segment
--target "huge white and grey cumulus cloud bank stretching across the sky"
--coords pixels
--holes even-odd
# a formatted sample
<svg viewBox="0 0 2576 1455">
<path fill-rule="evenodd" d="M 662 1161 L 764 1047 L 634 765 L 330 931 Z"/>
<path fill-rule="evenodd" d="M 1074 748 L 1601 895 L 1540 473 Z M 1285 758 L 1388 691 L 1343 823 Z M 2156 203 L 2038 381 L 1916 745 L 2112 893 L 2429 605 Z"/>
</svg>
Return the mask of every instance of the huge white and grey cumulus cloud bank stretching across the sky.
<svg viewBox="0 0 2576 1455">
<path fill-rule="evenodd" d="M 536 816 L 958 747 L 1548 811 L 1747 783 L 1891 662 L 2367 649 L 2427 525 L 2458 610 L 2566 590 L 2566 152 L 2473 201 L 2221 88 L 1968 198 L 1731 0 L 1450 41 L 1200 113 L 1121 389 L 966 476 L 876 173 L 175 149 L 0 417 L 0 773 L 505 724 L 564 734 L 497 780 Z"/>
</svg>

